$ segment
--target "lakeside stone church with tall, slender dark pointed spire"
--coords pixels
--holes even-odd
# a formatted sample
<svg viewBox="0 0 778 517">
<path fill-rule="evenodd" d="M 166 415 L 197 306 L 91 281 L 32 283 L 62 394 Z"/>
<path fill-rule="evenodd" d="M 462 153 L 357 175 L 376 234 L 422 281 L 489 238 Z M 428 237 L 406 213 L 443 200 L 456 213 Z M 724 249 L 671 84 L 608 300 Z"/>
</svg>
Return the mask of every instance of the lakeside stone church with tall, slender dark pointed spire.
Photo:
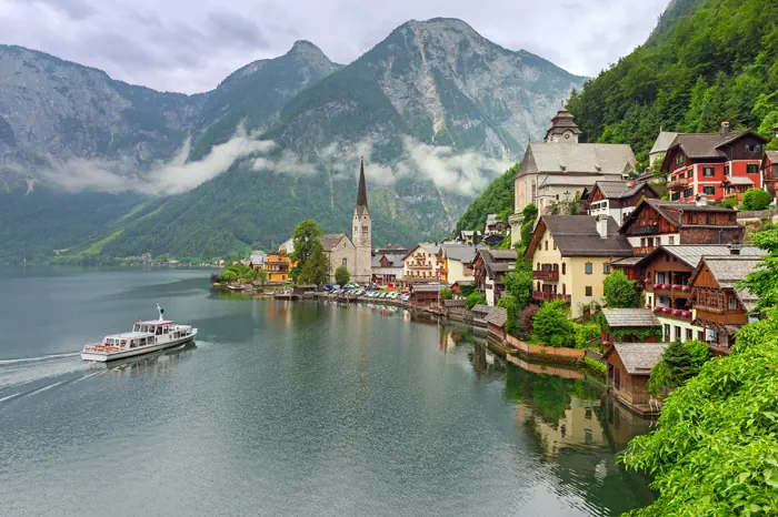
<svg viewBox="0 0 778 517">
<path fill-rule="evenodd" d="M 330 233 L 320 237 L 321 247 L 329 258 L 330 283 L 335 283 L 335 270 L 341 265 L 349 270 L 351 282 L 367 284 L 372 277 L 372 222 L 368 210 L 365 160 L 359 166 L 357 206 L 353 209 L 351 223 L 351 239 L 345 233 Z"/>
</svg>

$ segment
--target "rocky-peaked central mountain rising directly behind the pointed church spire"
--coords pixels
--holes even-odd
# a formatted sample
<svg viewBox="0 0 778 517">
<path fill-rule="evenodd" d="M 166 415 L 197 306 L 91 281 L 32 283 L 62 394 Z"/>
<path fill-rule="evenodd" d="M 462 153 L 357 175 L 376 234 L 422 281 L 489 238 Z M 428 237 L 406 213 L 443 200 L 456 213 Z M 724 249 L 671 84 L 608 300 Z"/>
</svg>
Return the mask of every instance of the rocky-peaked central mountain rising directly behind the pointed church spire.
<svg viewBox="0 0 778 517">
<path fill-rule="evenodd" d="M 348 231 L 360 154 L 373 240 L 439 239 L 581 83 L 461 20 L 410 21 L 293 97 L 265 133 L 277 158 L 293 156 L 307 173 L 243 163 L 128 226 L 106 252 L 245 252 L 283 242 L 303 219 Z"/>
</svg>

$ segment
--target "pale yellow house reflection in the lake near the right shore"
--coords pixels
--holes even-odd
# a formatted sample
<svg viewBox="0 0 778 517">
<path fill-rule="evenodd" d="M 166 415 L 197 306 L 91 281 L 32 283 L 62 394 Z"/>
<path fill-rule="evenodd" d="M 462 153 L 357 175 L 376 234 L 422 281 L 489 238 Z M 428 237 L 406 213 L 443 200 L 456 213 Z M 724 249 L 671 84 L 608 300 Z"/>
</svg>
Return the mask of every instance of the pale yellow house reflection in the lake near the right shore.
<svg viewBox="0 0 778 517">
<path fill-rule="evenodd" d="M 521 425 L 535 427 L 540 435 L 540 442 L 546 454 L 558 456 L 561 449 L 569 446 L 607 446 L 602 426 L 595 414 L 600 401 L 570 397 L 570 404 L 559 420 L 549 423 L 540 415 L 535 415 L 532 408 L 522 403 L 516 405 L 516 420 Z"/>
</svg>

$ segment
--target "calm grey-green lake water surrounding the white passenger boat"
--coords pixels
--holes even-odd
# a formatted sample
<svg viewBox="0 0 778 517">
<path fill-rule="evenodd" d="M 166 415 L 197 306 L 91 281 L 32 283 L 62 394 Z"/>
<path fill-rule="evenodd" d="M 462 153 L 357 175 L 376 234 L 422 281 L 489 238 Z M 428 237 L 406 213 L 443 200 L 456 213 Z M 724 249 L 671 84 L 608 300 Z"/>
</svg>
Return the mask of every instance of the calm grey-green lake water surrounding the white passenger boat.
<svg viewBox="0 0 778 517">
<path fill-rule="evenodd" d="M 3 516 L 618 515 L 649 423 L 402 311 L 220 300 L 208 271 L 0 270 Z M 91 365 L 134 318 L 194 347 Z M 573 378 L 565 378 L 572 376 Z"/>
</svg>

